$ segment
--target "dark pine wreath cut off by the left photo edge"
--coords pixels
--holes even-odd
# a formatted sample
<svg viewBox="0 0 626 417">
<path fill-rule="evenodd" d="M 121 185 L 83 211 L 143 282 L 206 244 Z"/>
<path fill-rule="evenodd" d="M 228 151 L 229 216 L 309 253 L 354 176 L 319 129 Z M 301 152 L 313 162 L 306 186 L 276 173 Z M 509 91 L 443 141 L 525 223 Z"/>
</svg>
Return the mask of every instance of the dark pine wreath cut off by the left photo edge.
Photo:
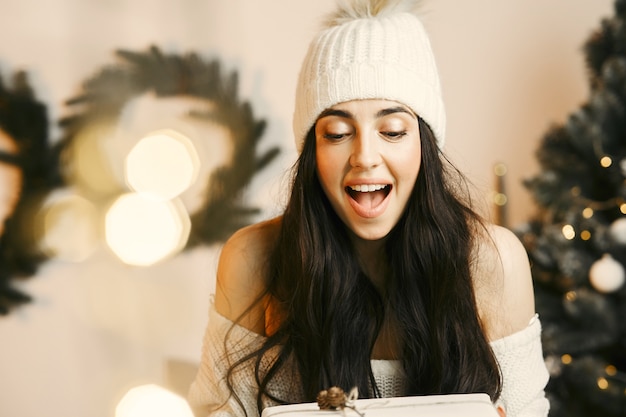
<svg viewBox="0 0 626 417">
<path fill-rule="evenodd" d="M 31 301 L 15 283 L 34 275 L 47 259 L 39 250 L 33 218 L 47 194 L 63 185 L 58 154 L 48 142 L 46 106 L 35 98 L 24 71 L 14 74 L 10 86 L 0 77 L 0 129 L 17 145 L 15 154 L 0 152 L 0 164 L 16 166 L 22 173 L 19 200 L 0 236 L 0 314 L 4 315 Z"/>
</svg>

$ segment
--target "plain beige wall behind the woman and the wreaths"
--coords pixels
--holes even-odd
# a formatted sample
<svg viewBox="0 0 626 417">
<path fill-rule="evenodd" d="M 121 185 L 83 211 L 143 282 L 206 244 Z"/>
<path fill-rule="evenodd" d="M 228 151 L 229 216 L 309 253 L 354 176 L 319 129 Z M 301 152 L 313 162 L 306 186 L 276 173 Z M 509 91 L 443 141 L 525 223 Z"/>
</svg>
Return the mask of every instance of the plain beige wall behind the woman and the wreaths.
<svg viewBox="0 0 626 417">
<path fill-rule="evenodd" d="M 280 209 L 295 159 L 293 91 L 317 19 L 331 0 L 0 0 L 0 72 L 26 69 L 54 122 L 80 83 L 118 48 L 195 51 L 239 71 L 241 95 L 268 121 L 281 157 L 247 198 Z M 508 167 L 511 225 L 533 202 L 521 180 L 551 123 L 587 98 L 581 46 L 609 0 L 425 0 L 448 110 L 446 150 L 485 197 Z M 54 137 L 58 132 L 53 131 Z M 487 203 L 489 204 L 489 203 Z M 172 373 L 200 355 L 219 245 L 130 267 L 100 248 L 80 263 L 50 261 L 24 288 L 36 301 L 0 317 L 0 415 L 110 417 L 131 387 L 184 389 Z M 175 380 L 183 378 L 183 383 Z"/>
</svg>

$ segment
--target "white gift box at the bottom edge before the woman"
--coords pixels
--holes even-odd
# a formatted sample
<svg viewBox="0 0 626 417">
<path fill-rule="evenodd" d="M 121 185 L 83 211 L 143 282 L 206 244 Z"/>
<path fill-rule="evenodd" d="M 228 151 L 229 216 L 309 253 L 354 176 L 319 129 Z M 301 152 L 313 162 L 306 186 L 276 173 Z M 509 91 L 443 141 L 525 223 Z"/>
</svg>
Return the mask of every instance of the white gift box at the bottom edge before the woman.
<svg viewBox="0 0 626 417">
<path fill-rule="evenodd" d="M 317 403 L 278 405 L 261 417 L 499 417 L 487 394 L 447 394 L 355 400 L 354 409 L 320 410 Z"/>
</svg>

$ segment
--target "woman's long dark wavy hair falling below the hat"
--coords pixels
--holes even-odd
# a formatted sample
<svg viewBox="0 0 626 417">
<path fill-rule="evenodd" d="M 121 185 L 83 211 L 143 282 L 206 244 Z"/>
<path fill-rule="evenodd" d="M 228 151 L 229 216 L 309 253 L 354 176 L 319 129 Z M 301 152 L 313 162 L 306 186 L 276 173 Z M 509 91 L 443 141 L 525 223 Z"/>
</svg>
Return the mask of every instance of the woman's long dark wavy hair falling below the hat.
<svg viewBox="0 0 626 417">
<path fill-rule="evenodd" d="M 361 398 L 378 396 L 370 357 L 385 314 L 400 327 L 404 395 L 499 396 L 500 373 L 478 318 L 471 276 L 481 219 L 470 208 L 463 176 L 421 118 L 419 126 L 422 165 L 406 210 L 386 239 L 384 298 L 360 268 L 349 232 L 322 190 L 314 130 L 309 132 L 267 265 L 266 295 L 280 322 L 251 357 L 260 359 L 276 347 L 280 354 L 269 369 L 256 361 L 259 412 L 264 397 L 289 401 L 268 388 L 290 358 L 304 401 L 315 401 L 330 386 L 356 386 Z"/>
</svg>

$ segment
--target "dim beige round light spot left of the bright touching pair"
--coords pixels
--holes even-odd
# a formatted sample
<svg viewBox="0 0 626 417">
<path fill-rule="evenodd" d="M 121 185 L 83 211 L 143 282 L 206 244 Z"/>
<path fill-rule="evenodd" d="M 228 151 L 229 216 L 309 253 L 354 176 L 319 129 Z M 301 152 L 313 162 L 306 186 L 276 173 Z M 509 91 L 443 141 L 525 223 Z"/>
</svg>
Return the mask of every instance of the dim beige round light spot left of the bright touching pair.
<svg viewBox="0 0 626 417">
<path fill-rule="evenodd" d="M 37 215 L 40 244 L 50 256 L 80 262 L 98 245 L 98 213 L 85 198 L 71 192 L 52 194 Z"/>
</svg>

